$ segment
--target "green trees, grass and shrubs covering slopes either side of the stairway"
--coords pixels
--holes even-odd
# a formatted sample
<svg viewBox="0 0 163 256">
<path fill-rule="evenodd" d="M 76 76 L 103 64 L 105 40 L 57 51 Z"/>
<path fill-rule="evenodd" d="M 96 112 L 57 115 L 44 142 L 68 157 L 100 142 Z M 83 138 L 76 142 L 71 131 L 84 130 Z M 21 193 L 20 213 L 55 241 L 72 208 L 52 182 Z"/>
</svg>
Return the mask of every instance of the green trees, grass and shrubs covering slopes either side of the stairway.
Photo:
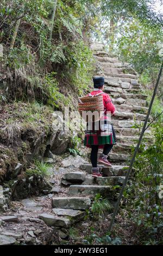
<svg viewBox="0 0 163 256">
<path fill-rule="evenodd" d="M 129 69 L 123 69 L 124 74 L 135 75 L 134 69 L 139 73 L 139 82 L 150 101 L 162 62 L 163 44 L 163 18 L 154 11 L 154 2 L 1 1 L 1 182 L 13 178 L 18 162 L 23 165 L 21 174 L 47 178 L 49 164 L 33 159 L 38 155 L 43 157 L 50 146 L 49 137 L 58 135 L 58 131 L 52 131 L 52 113 L 63 111 L 65 106 L 76 110 L 77 97 L 89 91 L 96 69 L 90 50 L 93 41 L 103 42 L 110 56 L 130 63 Z M 133 235 L 136 241 L 133 237 L 129 240 L 133 243 L 162 244 L 162 199 L 158 196 L 163 184 L 162 83 L 161 78 L 152 109 L 153 138 L 151 144 L 146 139 L 141 144 L 135 176 L 126 188 L 114 232 L 108 233 L 112 205 L 108 198 L 97 194 L 87 210 L 85 221 L 89 223 L 79 229 L 70 228 L 71 242 L 121 245 L 124 236 Z M 135 127 L 140 129 L 138 125 Z M 81 134 L 72 135 L 67 143 L 70 154 L 81 155 L 81 138 Z M 112 186 L 111 190 L 117 195 L 120 186 Z"/>
</svg>

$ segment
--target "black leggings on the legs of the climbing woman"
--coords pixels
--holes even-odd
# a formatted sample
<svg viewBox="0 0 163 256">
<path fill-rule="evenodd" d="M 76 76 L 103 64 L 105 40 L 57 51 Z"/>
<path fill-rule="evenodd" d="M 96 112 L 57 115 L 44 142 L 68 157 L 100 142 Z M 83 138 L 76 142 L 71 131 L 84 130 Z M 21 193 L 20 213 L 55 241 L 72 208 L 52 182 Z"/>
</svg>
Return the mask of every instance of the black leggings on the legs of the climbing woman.
<svg viewBox="0 0 163 256">
<path fill-rule="evenodd" d="M 113 146 L 114 145 L 105 144 L 104 145 L 103 154 L 104 155 L 108 155 Z M 91 150 L 91 163 L 92 163 L 92 167 L 97 167 L 98 145 L 91 145 L 91 149 L 92 149 Z"/>
</svg>

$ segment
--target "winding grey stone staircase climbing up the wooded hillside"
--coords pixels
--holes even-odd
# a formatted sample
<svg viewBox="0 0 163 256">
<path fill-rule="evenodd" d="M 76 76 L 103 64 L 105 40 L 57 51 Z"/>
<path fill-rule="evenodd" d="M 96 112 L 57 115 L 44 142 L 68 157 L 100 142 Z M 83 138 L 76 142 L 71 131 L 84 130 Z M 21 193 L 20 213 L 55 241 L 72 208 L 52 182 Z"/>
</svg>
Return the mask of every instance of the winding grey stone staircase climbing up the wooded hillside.
<svg viewBox="0 0 163 256">
<path fill-rule="evenodd" d="M 115 203 L 116 193 L 112 192 L 112 187 L 123 184 L 130 160 L 131 146 L 134 147 L 139 138 L 140 130 L 133 126 L 143 124 L 148 109 L 147 95 L 138 82 L 135 70 L 128 63 L 122 63 L 118 58 L 104 52 L 101 44 L 94 45 L 92 49 L 97 63 L 96 75 L 105 77 L 105 92 L 111 96 L 116 106 L 112 124 L 116 130 L 117 144 L 109 154 L 112 167 L 99 165 L 102 168 L 102 178 L 93 178 L 91 164 L 87 163 L 82 164 L 80 170 L 66 173 L 62 178 L 63 184 L 66 181 L 70 187 L 66 196 L 52 198 L 53 212 L 57 217 L 46 216 L 46 214 L 40 217 L 47 224 L 50 220 L 53 225 L 64 228 L 84 218 L 85 210 L 90 208 L 92 198 L 97 193 L 107 195 L 110 202 Z M 145 136 L 150 139 L 149 131 L 146 131 Z"/>
</svg>

